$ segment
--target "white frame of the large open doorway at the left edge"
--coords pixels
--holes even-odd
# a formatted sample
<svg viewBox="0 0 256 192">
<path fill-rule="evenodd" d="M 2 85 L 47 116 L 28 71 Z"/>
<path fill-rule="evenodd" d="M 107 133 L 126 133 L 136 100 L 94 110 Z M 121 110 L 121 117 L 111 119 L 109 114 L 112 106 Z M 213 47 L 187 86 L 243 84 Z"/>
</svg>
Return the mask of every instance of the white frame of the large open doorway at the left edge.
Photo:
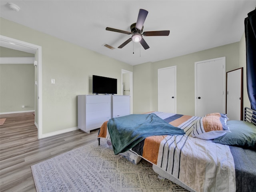
<svg viewBox="0 0 256 192">
<path fill-rule="evenodd" d="M 0 35 L 0 42 L 1 46 L 6 45 L 7 48 L 14 50 L 24 52 L 28 52 L 28 50 L 35 51 L 36 62 L 34 64 L 37 67 L 37 70 L 35 70 L 35 76 L 37 76 L 37 79 L 35 80 L 35 84 L 37 84 L 37 94 L 35 94 L 35 122 L 37 122 L 38 139 L 40 139 L 42 138 L 42 47 L 2 35 Z"/>
</svg>

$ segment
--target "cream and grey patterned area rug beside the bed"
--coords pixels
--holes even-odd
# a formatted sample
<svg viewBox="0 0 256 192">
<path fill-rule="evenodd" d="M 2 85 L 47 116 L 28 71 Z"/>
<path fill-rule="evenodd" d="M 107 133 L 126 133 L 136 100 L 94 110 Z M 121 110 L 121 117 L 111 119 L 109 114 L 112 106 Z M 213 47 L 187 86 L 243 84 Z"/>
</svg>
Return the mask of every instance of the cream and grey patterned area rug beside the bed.
<svg viewBox="0 0 256 192">
<path fill-rule="evenodd" d="M 31 166 L 38 192 L 187 192 L 157 178 L 152 164 L 132 164 L 108 148 L 105 139 Z"/>
</svg>

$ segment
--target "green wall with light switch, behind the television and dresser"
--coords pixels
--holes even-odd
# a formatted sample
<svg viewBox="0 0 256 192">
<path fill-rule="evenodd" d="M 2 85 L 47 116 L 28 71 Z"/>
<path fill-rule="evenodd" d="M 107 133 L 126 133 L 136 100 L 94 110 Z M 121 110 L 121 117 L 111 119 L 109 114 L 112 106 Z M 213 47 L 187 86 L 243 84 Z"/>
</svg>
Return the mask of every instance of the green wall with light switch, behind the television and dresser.
<svg viewBox="0 0 256 192">
<path fill-rule="evenodd" d="M 77 95 L 91 94 L 93 74 L 117 78 L 121 94 L 121 70 L 133 71 L 129 64 L 4 18 L 0 27 L 3 36 L 42 46 L 43 134 L 77 127 Z"/>
</svg>

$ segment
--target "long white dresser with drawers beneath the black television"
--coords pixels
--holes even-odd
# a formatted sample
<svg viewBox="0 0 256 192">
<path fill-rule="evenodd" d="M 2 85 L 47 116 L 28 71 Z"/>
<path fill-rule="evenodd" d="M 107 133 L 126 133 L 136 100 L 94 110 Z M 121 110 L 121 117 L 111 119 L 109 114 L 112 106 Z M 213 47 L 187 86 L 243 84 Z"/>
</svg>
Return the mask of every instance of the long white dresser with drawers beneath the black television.
<svg viewBox="0 0 256 192">
<path fill-rule="evenodd" d="M 90 133 L 105 121 L 130 114 L 130 96 L 78 95 L 78 128 Z"/>
</svg>

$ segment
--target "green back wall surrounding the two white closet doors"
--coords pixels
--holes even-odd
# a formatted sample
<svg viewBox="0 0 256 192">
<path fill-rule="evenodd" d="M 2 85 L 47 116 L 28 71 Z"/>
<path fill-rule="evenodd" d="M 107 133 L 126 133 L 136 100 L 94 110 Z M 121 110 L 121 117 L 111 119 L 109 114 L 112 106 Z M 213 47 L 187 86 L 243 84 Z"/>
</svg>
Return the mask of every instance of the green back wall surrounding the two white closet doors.
<svg viewBox="0 0 256 192">
<path fill-rule="evenodd" d="M 241 41 L 243 40 L 241 39 Z M 240 44 L 241 42 L 236 42 L 184 56 L 134 66 L 134 113 L 158 110 L 158 69 L 177 66 L 177 113 L 194 115 L 194 63 L 225 56 L 226 71 L 240 68 Z M 142 76 L 141 74 L 145 75 Z M 141 94 L 136 92 L 140 90 L 143 90 Z M 142 100 L 142 94 L 144 100 Z"/>
</svg>

